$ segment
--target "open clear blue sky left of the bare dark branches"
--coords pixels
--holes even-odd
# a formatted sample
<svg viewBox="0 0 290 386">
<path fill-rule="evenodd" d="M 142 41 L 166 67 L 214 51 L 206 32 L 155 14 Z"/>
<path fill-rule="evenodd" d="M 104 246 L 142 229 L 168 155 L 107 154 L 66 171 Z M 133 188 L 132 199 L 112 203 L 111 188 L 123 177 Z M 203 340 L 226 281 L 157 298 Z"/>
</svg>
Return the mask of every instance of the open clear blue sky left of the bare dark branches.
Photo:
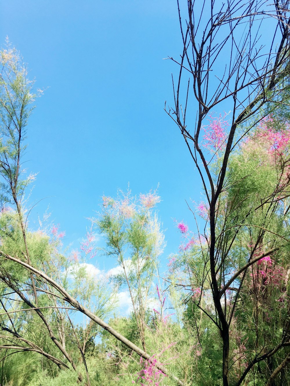
<svg viewBox="0 0 290 386">
<path fill-rule="evenodd" d="M 175 0 L 10 0 L 2 2 L 1 42 L 9 36 L 45 88 L 27 127 L 26 167 L 38 172 L 30 224 L 51 219 L 77 242 L 103 194 L 128 183 L 155 189 L 166 230 L 162 263 L 178 249 L 177 220 L 194 229 L 185 200 L 198 201 L 200 179 L 183 138 L 164 112 L 173 105 L 167 56 L 182 49 Z M 102 260 L 98 261 L 103 266 Z"/>
</svg>

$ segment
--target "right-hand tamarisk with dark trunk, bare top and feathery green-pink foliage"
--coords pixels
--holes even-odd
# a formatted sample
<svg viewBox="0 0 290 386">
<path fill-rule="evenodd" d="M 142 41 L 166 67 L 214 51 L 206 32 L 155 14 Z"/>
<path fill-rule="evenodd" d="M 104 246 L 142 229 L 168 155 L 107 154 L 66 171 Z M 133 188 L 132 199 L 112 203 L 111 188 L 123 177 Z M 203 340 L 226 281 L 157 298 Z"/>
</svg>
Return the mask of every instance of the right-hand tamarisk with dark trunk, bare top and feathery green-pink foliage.
<svg viewBox="0 0 290 386">
<path fill-rule="evenodd" d="M 184 264 L 191 266 L 184 286 L 192 288 L 191 302 L 222 339 L 222 384 L 242 384 L 265 361 L 272 384 L 289 354 L 284 350 L 281 363 L 270 358 L 290 345 L 290 137 L 277 113 L 289 105 L 289 2 L 188 0 L 185 21 L 184 4 L 177 4 L 183 48 L 179 60 L 169 58 L 179 76 L 174 107 L 165 104 L 165 110 L 181 131 L 205 195 L 198 207 L 205 232 L 183 247 Z M 180 230 L 188 237 L 187 229 Z M 209 291 L 212 300 L 202 301 Z M 268 303 L 270 293 L 284 307 L 278 324 L 277 315 L 271 319 L 277 308 Z M 249 299 L 254 320 L 244 314 L 243 323 L 252 335 L 238 318 Z M 238 339 L 239 356 L 233 329 L 249 334 L 248 347 Z"/>
</svg>

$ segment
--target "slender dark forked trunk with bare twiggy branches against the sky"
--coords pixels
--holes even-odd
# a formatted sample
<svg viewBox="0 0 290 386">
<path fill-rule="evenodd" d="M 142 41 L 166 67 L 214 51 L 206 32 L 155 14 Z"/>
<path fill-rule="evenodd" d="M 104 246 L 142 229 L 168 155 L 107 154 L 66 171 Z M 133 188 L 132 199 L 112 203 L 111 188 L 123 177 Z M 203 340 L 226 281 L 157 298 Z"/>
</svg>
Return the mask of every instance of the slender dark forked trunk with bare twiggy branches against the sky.
<svg viewBox="0 0 290 386">
<path fill-rule="evenodd" d="M 266 233 L 270 232 L 267 228 L 271 223 L 269 218 L 276 215 L 274 204 L 270 202 L 277 202 L 280 193 L 283 199 L 288 197 L 288 179 L 284 173 L 288 158 L 285 156 L 280 160 L 281 168 L 277 171 L 278 178 L 271 192 L 267 190 L 264 197 L 259 196 L 259 205 L 248 203 L 248 212 L 241 211 L 242 214 L 238 211 L 248 199 L 249 192 L 242 191 L 248 176 L 239 176 L 239 168 L 234 169 L 231 161 L 239 145 L 252 135 L 259 122 L 269 116 L 277 105 L 288 105 L 288 93 L 285 91 L 290 73 L 289 2 L 277 0 L 273 4 L 269 1 L 229 0 L 221 4 L 215 0 L 188 0 L 184 22 L 184 9 L 181 8 L 184 4 L 177 0 L 177 5 L 182 53 L 179 60 L 169 58 L 179 66 L 179 75 L 173 83 L 174 107 L 165 105 L 165 110 L 183 135 L 205 192 L 208 233 L 205 234 L 206 250 L 203 251 L 203 284 L 208 281 L 212 293 L 215 314 L 210 317 L 222 338 L 222 379 L 223 385 L 228 386 L 232 384 L 232 380 L 229 381 L 230 326 L 246 274 L 255 262 L 272 256 L 282 246 L 288 245 L 285 235 L 278 233 L 279 243 L 273 238 L 270 242 L 266 237 Z M 222 113 L 224 110 L 227 118 Z M 275 147 L 277 141 L 273 141 Z M 252 144 L 257 142 L 258 138 Z M 246 166 L 239 164 L 239 167 Z M 250 175 L 252 172 L 249 171 Z M 232 177 L 233 173 L 236 177 Z M 238 176 L 243 181 L 240 191 L 235 192 L 233 201 L 227 201 L 228 206 L 225 207 L 223 202 L 233 190 L 230 183 L 237 186 Z M 267 185 L 268 181 L 264 183 Z M 255 225 L 251 225 L 251 249 L 247 250 L 243 259 L 236 259 L 230 270 L 235 242 L 244 227 L 248 226 L 250 218 L 253 221 L 252 214 L 258 210 L 263 212 L 263 220 L 256 225 L 255 232 L 252 232 Z M 237 217 L 232 220 L 229 230 L 227 218 L 232 213 Z M 284 215 L 287 214 L 288 210 Z M 227 306 L 226 291 L 237 281 L 235 301 Z M 199 302 L 197 304 L 200 305 Z M 285 340 L 284 336 L 283 344 Z M 241 384 L 249 369 L 271 352 L 263 354 L 264 357 L 257 352 L 236 384 Z"/>
</svg>

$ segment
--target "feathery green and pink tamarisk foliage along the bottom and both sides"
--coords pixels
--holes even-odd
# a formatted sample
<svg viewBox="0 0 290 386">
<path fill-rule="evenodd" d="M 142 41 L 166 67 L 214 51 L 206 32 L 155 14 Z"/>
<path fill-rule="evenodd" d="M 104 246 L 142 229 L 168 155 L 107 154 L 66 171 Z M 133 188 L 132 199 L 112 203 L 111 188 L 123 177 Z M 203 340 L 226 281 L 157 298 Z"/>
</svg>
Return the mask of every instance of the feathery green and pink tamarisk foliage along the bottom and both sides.
<svg viewBox="0 0 290 386">
<path fill-rule="evenodd" d="M 36 95 L 14 49 L 1 51 L 0 64 L 1 384 L 65 386 L 83 378 L 83 384 L 91 386 L 127 386 L 145 382 L 140 374 L 151 366 L 92 319 L 76 323 L 78 315 L 69 309 L 75 303 L 67 295 L 7 255 L 44 271 L 79 302 L 76 308 L 84 310 L 83 305 L 107 320 L 186 386 L 223 384 L 225 331 L 230 385 L 259 356 L 263 360 L 251 367 L 244 384 L 265 384 L 287 356 L 290 341 L 290 130 L 285 122 L 289 114 L 277 108 L 279 101 L 271 106 L 268 121 L 243 128 L 248 137 L 229 154 L 225 183 L 211 212 L 211 229 L 207 207 L 201 215 L 203 235 L 193 236 L 187 225 L 179 224 L 188 243 L 183 242 L 172 257 L 162 291 L 159 258 L 164 234 L 153 210 L 160 201 L 156 192 L 138 198 L 130 191 L 120 192 L 116 199 L 103 197 L 102 213 L 93 219 L 80 253 L 63 250 L 56 227 L 50 236 L 48 229 L 27 229 L 22 201 L 34 175 L 20 179 L 21 160 Z M 207 135 L 209 141 L 215 139 L 212 134 Z M 220 178 L 223 151 L 221 146 L 215 149 L 213 185 Z M 14 209 L 7 207 L 8 202 Z M 106 242 L 99 251 L 116 262 L 116 274 L 110 278 L 89 262 L 96 256 L 95 230 Z M 212 235 L 215 244 L 210 249 Z M 120 289 L 130 293 L 133 311 L 128 317 L 116 313 Z M 283 368 L 279 384 L 288 385 L 289 376 L 289 369 Z M 160 386 L 174 384 L 167 377 L 160 381 Z"/>
</svg>

